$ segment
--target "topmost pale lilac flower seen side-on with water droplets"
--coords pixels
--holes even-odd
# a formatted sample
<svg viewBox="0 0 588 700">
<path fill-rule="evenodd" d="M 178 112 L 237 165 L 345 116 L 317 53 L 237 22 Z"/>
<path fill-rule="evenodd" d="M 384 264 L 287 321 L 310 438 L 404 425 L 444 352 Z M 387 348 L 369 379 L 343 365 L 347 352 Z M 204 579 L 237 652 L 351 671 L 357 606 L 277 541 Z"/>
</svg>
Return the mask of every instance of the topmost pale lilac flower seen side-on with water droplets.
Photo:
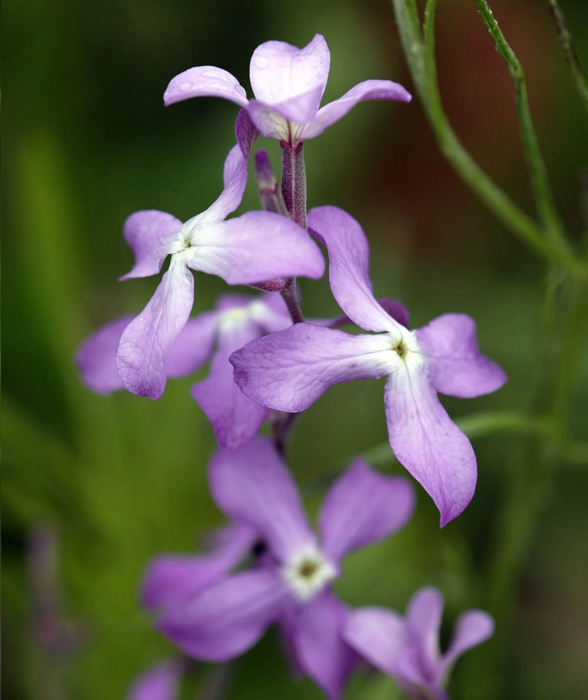
<svg viewBox="0 0 588 700">
<path fill-rule="evenodd" d="M 358 102 L 411 99 L 402 85 L 391 80 L 365 80 L 318 109 L 329 64 L 329 49 L 320 34 L 302 49 L 283 41 L 266 41 L 253 52 L 249 67 L 255 99 L 247 99 L 235 76 L 214 66 L 180 73 L 167 86 L 163 99 L 169 105 L 190 97 L 223 97 L 244 107 L 264 136 L 290 145 L 322 134 Z"/>
</svg>

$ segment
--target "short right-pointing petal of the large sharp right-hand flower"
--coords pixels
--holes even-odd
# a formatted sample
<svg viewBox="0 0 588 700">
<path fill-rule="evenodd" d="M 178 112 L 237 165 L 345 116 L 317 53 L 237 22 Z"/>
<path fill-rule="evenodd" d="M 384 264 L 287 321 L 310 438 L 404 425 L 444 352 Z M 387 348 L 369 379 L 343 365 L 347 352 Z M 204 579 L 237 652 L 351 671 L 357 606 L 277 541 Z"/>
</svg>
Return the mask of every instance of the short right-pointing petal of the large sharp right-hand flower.
<svg viewBox="0 0 588 700">
<path fill-rule="evenodd" d="M 506 381 L 500 365 L 479 351 L 476 323 L 465 314 L 443 314 L 416 331 L 431 384 L 440 393 L 473 398 Z"/>
</svg>

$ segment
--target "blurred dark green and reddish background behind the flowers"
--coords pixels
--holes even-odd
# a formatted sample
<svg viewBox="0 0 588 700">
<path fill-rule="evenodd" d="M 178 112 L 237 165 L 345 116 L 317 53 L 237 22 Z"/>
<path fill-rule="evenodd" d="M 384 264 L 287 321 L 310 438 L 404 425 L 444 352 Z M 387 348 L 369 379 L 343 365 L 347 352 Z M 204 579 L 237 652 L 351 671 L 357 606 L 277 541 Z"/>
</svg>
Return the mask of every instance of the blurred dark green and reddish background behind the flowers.
<svg viewBox="0 0 588 700">
<path fill-rule="evenodd" d="M 577 233 L 587 129 L 547 4 L 491 2 L 524 64 L 556 201 Z M 561 5 L 588 66 L 585 1 Z M 325 99 L 366 78 L 412 86 L 386 0 L 9 0 L 3 14 L 3 690 L 12 700 L 122 698 L 134 676 L 172 652 L 137 602 L 146 563 L 158 552 L 193 551 L 222 522 L 205 475 L 214 436 L 188 393 L 195 377 L 169 381 L 158 402 L 105 398 L 80 384 L 73 365 L 97 325 L 139 311 L 155 288 L 155 279 L 116 281 L 132 262 L 125 217 L 153 208 L 185 219 L 221 188 L 237 109 L 218 99 L 164 109 L 167 82 L 211 64 L 248 88 L 256 45 L 302 46 L 321 32 L 332 57 Z M 442 0 L 437 14 L 451 122 L 532 213 L 505 65 L 475 3 Z M 276 144 L 261 141 L 278 165 Z M 337 204 L 363 223 L 377 294 L 403 300 L 417 327 L 444 311 L 471 314 L 482 348 L 507 370 L 494 395 L 444 400 L 451 414 L 521 408 L 541 341 L 544 267 L 451 172 L 418 102 L 362 104 L 305 152 L 309 207 Z M 258 208 L 251 185 L 239 211 L 250 208 Z M 199 275 L 195 289 L 199 312 L 225 286 Z M 308 316 L 337 312 L 326 279 L 302 281 L 302 295 Z M 585 439 L 585 354 L 582 362 L 570 430 Z M 298 421 L 290 465 L 309 512 L 321 475 L 385 442 L 381 404 L 377 381 L 339 385 Z M 521 440 L 475 439 L 479 482 L 468 510 L 440 531 L 417 489 L 409 526 L 351 556 L 336 585 L 352 605 L 400 610 L 417 587 L 436 585 L 447 601 L 444 637 L 465 608 L 497 612 L 496 637 L 458 662 L 454 698 L 552 700 L 588 687 L 588 471 L 562 461 L 520 555 L 505 563 L 501 553 L 521 531 L 516 517 L 500 525 L 503 512 L 519 470 L 533 479 Z M 209 697 L 210 673 L 198 666 L 186 697 Z M 365 675 L 353 683 L 349 698 L 395 696 Z M 288 680 L 270 633 L 235 665 L 225 697 L 276 696 L 321 694 L 308 680 Z"/>
</svg>

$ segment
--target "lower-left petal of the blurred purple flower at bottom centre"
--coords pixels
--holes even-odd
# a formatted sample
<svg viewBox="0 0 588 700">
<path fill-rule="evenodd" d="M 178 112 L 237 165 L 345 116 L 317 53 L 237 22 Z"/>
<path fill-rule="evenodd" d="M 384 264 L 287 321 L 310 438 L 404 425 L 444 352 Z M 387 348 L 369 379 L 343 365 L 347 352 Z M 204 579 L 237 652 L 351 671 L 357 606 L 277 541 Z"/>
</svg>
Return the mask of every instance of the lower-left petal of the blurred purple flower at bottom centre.
<svg viewBox="0 0 588 700">
<path fill-rule="evenodd" d="M 274 570 L 245 571 L 166 608 L 158 629 L 188 656 L 227 661 L 258 641 L 289 596 Z"/>
</svg>

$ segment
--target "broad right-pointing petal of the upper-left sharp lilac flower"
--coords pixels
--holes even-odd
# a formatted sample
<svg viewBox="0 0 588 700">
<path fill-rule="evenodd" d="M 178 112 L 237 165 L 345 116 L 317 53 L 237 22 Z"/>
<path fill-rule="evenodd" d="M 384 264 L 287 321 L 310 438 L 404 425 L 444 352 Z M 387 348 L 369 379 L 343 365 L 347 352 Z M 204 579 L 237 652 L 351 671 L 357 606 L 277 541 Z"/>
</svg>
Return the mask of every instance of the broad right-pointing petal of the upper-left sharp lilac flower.
<svg viewBox="0 0 588 700">
<path fill-rule="evenodd" d="M 304 229 L 269 211 L 248 211 L 205 226 L 188 252 L 189 267 L 216 274 L 229 284 L 279 276 L 318 279 L 325 269 L 321 251 Z"/>
</svg>

